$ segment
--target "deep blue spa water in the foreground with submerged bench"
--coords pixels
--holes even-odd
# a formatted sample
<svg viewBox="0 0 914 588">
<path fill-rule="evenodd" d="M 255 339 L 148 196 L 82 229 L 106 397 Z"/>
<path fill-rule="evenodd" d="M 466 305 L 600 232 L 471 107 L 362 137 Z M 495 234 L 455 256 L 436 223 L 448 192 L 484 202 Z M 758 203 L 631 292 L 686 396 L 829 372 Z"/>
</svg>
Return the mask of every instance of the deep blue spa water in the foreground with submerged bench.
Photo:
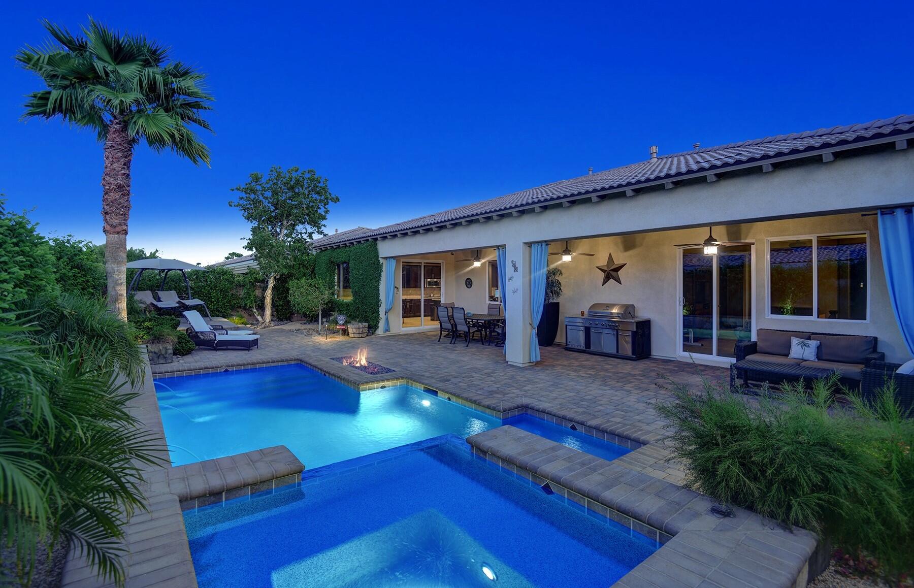
<svg viewBox="0 0 914 588">
<path fill-rule="evenodd" d="M 306 472 L 303 486 L 271 496 L 186 513 L 197 582 L 607 586 L 657 548 L 495 470 L 459 437 L 416 445 Z"/>
</svg>

